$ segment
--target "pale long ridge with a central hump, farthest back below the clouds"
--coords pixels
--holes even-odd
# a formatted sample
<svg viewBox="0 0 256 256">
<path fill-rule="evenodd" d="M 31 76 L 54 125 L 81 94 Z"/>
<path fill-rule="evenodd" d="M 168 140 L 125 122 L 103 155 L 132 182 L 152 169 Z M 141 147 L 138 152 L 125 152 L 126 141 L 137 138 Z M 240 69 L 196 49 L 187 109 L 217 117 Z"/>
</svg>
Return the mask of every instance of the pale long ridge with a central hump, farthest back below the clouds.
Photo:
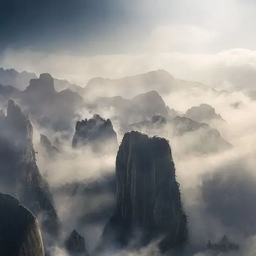
<svg viewBox="0 0 256 256">
<path fill-rule="evenodd" d="M 86 97 L 113 97 L 120 95 L 132 98 L 147 91 L 158 91 L 161 95 L 177 90 L 199 88 L 212 90 L 211 87 L 198 82 L 174 78 L 165 70 L 154 70 L 136 76 L 109 79 L 96 77 L 89 80 L 85 86 Z"/>
</svg>

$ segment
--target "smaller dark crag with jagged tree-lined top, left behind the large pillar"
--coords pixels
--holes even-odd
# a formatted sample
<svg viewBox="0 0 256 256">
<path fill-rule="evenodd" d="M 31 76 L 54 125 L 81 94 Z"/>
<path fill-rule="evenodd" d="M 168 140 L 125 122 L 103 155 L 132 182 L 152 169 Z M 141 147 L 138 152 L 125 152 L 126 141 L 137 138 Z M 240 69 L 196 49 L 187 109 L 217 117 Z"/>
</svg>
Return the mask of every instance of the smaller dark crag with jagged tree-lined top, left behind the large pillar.
<svg viewBox="0 0 256 256">
<path fill-rule="evenodd" d="M 110 119 L 103 119 L 94 114 L 89 120 L 78 121 L 72 146 L 90 146 L 93 151 L 117 150 L 117 134 L 113 130 Z"/>
</svg>

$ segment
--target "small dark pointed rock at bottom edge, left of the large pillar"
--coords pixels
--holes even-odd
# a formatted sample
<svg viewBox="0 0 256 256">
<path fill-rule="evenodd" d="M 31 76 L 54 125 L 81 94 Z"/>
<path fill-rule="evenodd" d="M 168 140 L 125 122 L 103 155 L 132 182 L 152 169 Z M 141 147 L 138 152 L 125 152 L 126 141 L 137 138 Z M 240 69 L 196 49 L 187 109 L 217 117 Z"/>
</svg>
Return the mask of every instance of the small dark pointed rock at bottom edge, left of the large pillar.
<svg viewBox="0 0 256 256">
<path fill-rule="evenodd" d="M 84 238 L 73 230 L 65 242 L 66 250 L 73 256 L 89 256 L 85 249 Z"/>
</svg>

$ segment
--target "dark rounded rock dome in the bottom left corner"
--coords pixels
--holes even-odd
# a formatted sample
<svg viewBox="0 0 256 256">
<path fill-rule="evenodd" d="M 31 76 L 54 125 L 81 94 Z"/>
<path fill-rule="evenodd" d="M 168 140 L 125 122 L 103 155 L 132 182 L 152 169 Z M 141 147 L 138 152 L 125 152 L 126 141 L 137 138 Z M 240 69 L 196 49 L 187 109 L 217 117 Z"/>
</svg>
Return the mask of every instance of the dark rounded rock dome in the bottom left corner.
<svg viewBox="0 0 256 256">
<path fill-rule="evenodd" d="M 44 256 L 41 231 L 36 218 L 16 198 L 2 193 L 0 255 Z"/>
</svg>

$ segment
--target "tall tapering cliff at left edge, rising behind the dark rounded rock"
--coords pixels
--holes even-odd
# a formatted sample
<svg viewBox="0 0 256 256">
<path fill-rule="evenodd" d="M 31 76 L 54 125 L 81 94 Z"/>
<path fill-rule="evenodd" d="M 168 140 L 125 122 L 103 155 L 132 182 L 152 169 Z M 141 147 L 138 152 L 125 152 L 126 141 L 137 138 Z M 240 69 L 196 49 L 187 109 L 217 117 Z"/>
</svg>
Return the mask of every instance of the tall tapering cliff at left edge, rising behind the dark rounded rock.
<svg viewBox="0 0 256 256">
<path fill-rule="evenodd" d="M 15 195 L 42 222 L 43 231 L 58 233 L 58 217 L 48 183 L 39 173 L 32 144 L 32 125 L 9 100 L 7 115 L 0 115 L 0 189 Z"/>
</svg>

